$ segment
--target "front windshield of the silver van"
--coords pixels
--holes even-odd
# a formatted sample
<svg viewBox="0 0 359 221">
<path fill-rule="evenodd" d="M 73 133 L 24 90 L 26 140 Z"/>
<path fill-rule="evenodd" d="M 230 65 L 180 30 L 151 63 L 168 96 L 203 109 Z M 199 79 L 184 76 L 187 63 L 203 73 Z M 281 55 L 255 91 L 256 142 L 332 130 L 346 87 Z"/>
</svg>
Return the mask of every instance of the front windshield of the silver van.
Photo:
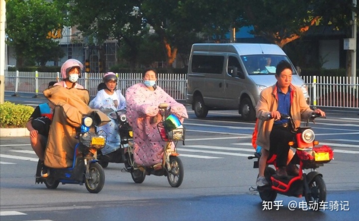
<svg viewBox="0 0 359 221">
<path fill-rule="evenodd" d="M 249 75 L 271 74 L 274 75 L 277 64 L 282 61 L 290 60 L 285 55 L 272 55 L 272 54 L 254 54 L 254 55 L 242 55 L 242 62 Z M 293 67 L 293 74 L 297 74 Z"/>
</svg>

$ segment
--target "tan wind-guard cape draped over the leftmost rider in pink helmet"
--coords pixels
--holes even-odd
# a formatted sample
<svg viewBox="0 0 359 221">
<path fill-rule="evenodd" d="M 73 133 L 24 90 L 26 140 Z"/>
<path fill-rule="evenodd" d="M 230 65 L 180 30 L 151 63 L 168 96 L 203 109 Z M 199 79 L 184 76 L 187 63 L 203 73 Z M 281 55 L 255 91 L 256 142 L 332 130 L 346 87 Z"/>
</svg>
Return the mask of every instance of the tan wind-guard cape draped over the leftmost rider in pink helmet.
<svg viewBox="0 0 359 221">
<path fill-rule="evenodd" d="M 90 99 L 87 90 L 53 86 L 44 90 L 43 94 L 55 105 L 44 164 L 51 168 L 71 167 L 74 148 L 78 143 L 76 128 L 81 126 L 82 115 L 96 111 L 98 125 L 107 123 L 110 119 L 101 111 L 87 106 Z"/>
</svg>

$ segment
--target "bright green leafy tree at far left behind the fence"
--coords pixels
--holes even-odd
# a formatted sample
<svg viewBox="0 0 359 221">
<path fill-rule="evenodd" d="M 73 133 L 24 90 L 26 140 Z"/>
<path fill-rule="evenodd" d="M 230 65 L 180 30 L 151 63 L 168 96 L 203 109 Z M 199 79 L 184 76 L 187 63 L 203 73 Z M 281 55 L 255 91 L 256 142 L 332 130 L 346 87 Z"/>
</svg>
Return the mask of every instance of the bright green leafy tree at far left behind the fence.
<svg viewBox="0 0 359 221">
<path fill-rule="evenodd" d="M 13 46 L 16 66 L 36 55 L 58 47 L 48 32 L 62 28 L 63 13 L 58 4 L 47 0 L 8 0 L 6 3 L 7 43 Z M 42 60 L 42 63 L 44 61 Z"/>
</svg>

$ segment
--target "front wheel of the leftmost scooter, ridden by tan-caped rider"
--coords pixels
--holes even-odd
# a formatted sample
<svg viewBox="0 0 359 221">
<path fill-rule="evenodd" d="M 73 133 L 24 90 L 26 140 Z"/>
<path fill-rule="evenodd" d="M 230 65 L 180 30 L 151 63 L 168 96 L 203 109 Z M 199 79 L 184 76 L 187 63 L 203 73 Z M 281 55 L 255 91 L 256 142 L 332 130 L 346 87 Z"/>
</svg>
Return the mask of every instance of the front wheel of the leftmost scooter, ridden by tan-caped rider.
<svg viewBox="0 0 359 221">
<path fill-rule="evenodd" d="M 101 165 L 98 163 L 92 163 L 89 168 L 90 177 L 85 178 L 85 186 L 88 192 L 91 194 L 99 193 L 105 184 L 105 172 Z"/>
</svg>

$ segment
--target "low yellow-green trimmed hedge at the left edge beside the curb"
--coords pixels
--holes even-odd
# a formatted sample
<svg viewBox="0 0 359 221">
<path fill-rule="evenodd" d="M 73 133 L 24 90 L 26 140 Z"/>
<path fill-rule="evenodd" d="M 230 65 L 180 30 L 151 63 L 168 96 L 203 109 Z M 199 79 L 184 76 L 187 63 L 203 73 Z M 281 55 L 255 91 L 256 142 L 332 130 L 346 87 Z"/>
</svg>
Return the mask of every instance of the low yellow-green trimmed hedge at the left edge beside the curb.
<svg viewBox="0 0 359 221">
<path fill-rule="evenodd" d="M 33 107 L 8 101 L 0 104 L 0 128 L 25 127 L 33 111 Z"/>
</svg>

